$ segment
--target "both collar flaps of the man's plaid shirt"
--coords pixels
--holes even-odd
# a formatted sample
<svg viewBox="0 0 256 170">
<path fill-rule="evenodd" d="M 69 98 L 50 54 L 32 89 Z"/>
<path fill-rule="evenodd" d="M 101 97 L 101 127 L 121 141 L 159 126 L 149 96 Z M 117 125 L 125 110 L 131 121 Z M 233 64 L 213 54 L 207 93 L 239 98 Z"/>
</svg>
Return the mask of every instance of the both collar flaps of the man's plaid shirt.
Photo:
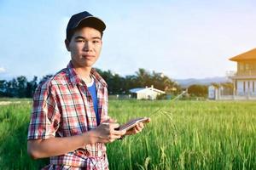
<svg viewBox="0 0 256 170">
<path fill-rule="evenodd" d="M 77 72 L 75 71 L 71 61 L 69 61 L 68 65 L 67 65 L 67 71 L 68 71 L 68 77 L 69 77 L 70 82 L 72 83 L 73 87 L 76 86 L 77 84 L 79 84 L 79 82 L 81 82 L 81 79 L 80 79 L 79 75 L 77 74 Z M 90 74 L 92 75 L 92 77 L 95 78 L 96 84 L 99 84 L 97 82 L 100 82 L 102 84 L 102 86 L 108 87 L 107 82 L 105 82 L 105 80 L 99 75 L 99 73 L 97 73 L 97 71 L 94 68 L 92 68 L 90 70 Z"/>
</svg>

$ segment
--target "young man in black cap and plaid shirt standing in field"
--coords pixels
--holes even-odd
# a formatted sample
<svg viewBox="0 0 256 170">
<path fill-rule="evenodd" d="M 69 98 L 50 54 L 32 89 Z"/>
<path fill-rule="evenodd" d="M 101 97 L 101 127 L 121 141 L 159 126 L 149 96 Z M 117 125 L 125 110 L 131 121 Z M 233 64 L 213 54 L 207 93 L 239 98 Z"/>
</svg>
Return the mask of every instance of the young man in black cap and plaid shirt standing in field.
<svg viewBox="0 0 256 170">
<path fill-rule="evenodd" d="M 108 169 L 105 144 L 129 131 L 108 118 L 107 83 L 92 68 L 102 49 L 104 22 L 84 11 L 67 24 L 67 68 L 40 84 L 34 94 L 27 151 L 34 159 L 50 157 L 45 169 Z"/>
</svg>

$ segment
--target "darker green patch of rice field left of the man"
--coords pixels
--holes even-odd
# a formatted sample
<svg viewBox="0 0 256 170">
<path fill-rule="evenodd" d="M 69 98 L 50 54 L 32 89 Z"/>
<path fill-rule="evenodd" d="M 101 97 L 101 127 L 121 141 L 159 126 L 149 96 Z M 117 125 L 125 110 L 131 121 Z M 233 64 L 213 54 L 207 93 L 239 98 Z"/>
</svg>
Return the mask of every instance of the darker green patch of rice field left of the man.
<svg viewBox="0 0 256 170">
<path fill-rule="evenodd" d="M 0 105 L 0 169 L 39 169 L 47 159 L 33 161 L 26 154 L 31 103 Z"/>
</svg>

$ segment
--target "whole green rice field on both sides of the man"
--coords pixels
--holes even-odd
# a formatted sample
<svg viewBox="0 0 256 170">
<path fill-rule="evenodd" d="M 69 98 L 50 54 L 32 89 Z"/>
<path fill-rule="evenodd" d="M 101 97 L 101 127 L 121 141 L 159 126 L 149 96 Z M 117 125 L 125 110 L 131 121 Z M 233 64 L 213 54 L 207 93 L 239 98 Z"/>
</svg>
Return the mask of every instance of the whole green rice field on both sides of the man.
<svg viewBox="0 0 256 170">
<path fill-rule="evenodd" d="M 142 133 L 108 144 L 110 169 L 256 169 L 256 102 L 110 100 L 126 122 L 150 116 Z M 32 103 L 0 105 L 0 169 L 39 169 L 26 154 Z M 152 115 L 153 114 L 153 115 Z"/>
</svg>

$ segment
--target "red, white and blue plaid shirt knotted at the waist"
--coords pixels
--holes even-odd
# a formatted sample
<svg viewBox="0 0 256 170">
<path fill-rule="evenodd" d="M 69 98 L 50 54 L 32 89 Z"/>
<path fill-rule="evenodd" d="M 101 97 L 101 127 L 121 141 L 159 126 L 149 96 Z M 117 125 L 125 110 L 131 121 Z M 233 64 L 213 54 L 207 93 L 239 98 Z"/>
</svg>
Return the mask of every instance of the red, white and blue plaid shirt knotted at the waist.
<svg viewBox="0 0 256 170">
<path fill-rule="evenodd" d="M 101 122 L 108 116 L 107 83 L 94 70 L 97 108 Z M 40 84 L 34 94 L 27 139 L 50 139 L 79 135 L 97 127 L 93 101 L 71 62 L 67 68 Z M 50 157 L 48 169 L 108 169 L 106 146 L 87 144 L 61 156 Z M 76 168 L 75 168 L 76 167 Z"/>
</svg>

